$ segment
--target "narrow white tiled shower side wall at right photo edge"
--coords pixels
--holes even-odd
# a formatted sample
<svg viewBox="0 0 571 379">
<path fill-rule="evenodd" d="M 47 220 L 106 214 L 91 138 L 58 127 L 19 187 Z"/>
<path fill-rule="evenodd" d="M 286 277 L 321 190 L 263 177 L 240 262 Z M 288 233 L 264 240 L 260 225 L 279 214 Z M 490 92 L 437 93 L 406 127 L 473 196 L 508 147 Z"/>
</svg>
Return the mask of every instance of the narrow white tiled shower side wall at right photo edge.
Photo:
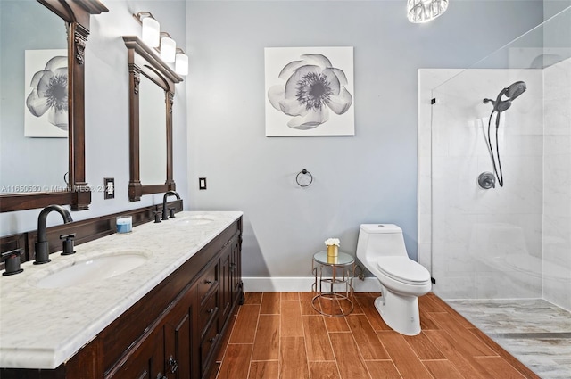
<svg viewBox="0 0 571 379">
<path fill-rule="evenodd" d="M 571 59 L 543 80 L 543 298 L 571 310 Z"/>
</svg>

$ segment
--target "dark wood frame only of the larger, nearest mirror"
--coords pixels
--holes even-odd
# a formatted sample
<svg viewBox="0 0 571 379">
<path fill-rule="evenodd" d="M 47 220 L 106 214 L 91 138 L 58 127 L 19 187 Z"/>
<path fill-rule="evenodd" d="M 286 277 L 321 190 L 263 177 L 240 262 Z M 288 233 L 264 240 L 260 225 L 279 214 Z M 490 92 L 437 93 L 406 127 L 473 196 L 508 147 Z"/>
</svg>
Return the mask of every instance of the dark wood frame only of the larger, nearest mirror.
<svg viewBox="0 0 571 379">
<path fill-rule="evenodd" d="M 87 210 L 91 189 L 85 164 L 85 48 L 92 14 L 109 12 L 100 0 L 37 0 L 68 23 L 68 144 L 67 191 L 0 195 L 0 212 L 31 210 L 50 204 Z"/>
</svg>

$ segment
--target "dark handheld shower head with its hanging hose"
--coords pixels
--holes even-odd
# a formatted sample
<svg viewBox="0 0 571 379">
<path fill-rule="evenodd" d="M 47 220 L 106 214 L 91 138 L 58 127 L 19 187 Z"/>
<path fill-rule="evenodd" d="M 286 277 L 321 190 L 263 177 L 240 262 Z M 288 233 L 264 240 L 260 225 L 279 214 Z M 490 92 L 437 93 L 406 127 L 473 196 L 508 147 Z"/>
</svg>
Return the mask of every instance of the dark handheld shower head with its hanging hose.
<svg viewBox="0 0 571 379">
<path fill-rule="evenodd" d="M 505 87 L 501 90 L 500 94 L 496 97 L 496 100 L 484 99 L 484 104 L 492 103 L 493 109 L 492 113 L 490 114 L 490 119 L 488 119 L 488 134 L 486 136 L 486 142 L 488 143 L 488 150 L 490 152 L 490 157 L 492 157 L 492 165 L 493 165 L 493 172 L 495 173 L 496 177 L 498 178 L 498 184 L 502 187 L 503 186 L 503 173 L 501 171 L 501 161 L 500 161 L 500 148 L 498 143 L 498 129 L 500 128 L 500 118 L 502 111 L 508 111 L 509 107 L 511 106 L 511 102 L 513 102 L 517 97 L 525 92 L 527 86 L 523 81 L 517 81 L 512 83 L 509 87 Z M 501 97 L 506 96 L 506 99 L 502 100 Z M 492 149 L 492 140 L 490 138 L 490 128 L 492 125 L 492 116 L 493 113 L 496 114 L 496 151 L 495 157 L 494 152 Z M 498 167 L 496 168 L 496 158 L 498 161 Z"/>
</svg>

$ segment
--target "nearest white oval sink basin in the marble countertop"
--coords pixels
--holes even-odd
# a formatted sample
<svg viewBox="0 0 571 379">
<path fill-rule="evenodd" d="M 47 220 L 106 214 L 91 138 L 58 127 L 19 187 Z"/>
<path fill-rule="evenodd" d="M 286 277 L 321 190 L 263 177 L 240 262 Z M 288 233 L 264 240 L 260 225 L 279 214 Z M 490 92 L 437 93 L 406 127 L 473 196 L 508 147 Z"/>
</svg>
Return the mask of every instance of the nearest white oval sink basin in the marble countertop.
<svg viewBox="0 0 571 379">
<path fill-rule="evenodd" d="M 62 288 L 90 283 L 124 274 L 148 260 L 150 253 L 142 251 L 116 251 L 85 260 L 76 260 L 71 265 L 37 279 L 39 288 Z"/>
</svg>

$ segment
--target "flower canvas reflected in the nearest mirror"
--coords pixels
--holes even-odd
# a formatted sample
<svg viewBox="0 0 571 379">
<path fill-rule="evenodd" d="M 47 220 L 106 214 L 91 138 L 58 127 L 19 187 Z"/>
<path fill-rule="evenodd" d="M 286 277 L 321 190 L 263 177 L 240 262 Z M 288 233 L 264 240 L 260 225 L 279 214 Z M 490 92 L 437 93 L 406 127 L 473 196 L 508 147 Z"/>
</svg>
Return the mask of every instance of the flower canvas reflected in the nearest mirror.
<svg viewBox="0 0 571 379">
<path fill-rule="evenodd" d="M 24 136 L 68 136 L 67 50 L 26 50 Z"/>
</svg>

